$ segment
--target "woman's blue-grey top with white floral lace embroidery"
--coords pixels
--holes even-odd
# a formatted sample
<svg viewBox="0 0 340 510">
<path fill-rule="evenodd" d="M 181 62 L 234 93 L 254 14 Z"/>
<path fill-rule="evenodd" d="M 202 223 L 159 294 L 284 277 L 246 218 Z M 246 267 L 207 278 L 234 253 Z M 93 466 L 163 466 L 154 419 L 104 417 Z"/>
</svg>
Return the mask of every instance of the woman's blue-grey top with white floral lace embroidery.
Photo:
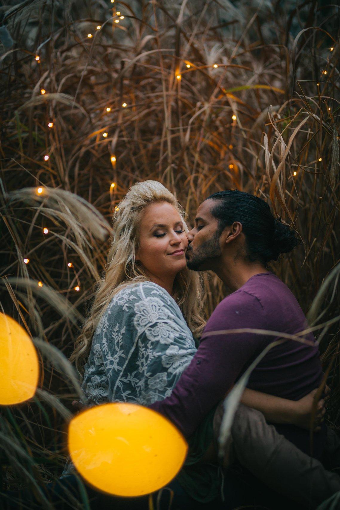
<svg viewBox="0 0 340 510">
<path fill-rule="evenodd" d="M 93 336 L 82 388 L 90 401 L 149 405 L 169 396 L 196 352 L 169 293 L 152 282 L 116 294 Z"/>
</svg>

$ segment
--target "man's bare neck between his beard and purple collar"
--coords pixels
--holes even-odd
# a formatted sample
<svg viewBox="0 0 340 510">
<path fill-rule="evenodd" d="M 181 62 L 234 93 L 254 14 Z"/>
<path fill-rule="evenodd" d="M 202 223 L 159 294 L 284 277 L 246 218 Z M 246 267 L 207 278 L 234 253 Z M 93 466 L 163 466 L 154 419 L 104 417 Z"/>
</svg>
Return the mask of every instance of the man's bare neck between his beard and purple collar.
<svg viewBox="0 0 340 510">
<path fill-rule="evenodd" d="M 240 260 L 222 260 L 213 271 L 232 292 L 240 289 L 255 274 L 268 270 L 259 262 L 245 263 Z"/>
</svg>

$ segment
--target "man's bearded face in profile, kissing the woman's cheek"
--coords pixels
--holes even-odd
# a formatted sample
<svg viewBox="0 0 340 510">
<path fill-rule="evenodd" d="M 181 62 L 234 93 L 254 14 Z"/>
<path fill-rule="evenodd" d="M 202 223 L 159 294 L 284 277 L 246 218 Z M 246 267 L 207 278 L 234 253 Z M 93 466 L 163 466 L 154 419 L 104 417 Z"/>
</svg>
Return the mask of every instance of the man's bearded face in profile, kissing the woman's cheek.
<svg viewBox="0 0 340 510">
<path fill-rule="evenodd" d="M 195 226 L 187 234 L 190 243 L 186 252 L 187 266 L 193 271 L 212 269 L 222 253 L 220 236 L 217 236 L 218 220 L 211 214 L 214 206 L 216 200 L 213 199 L 201 203 L 197 209 Z"/>
</svg>

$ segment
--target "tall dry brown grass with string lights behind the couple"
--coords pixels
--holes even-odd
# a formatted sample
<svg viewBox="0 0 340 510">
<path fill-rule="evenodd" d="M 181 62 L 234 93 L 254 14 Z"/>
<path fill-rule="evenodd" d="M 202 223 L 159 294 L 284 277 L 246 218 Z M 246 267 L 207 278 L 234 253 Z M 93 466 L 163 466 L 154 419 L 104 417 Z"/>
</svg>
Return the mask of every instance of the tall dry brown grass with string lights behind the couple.
<svg viewBox="0 0 340 510">
<path fill-rule="evenodd" d="M 176 193 L 189 220 L 206 196 L 237 188 L 294 226 L 303 243 L 274 270 L 326 324 L 316 335 L 337 426 L 336 6 L 34 0 L 7 2 L 0 16 L 1 304 L 42 356 L 34 400 L 0 411 L 3 490 L 62 470 L 80 391 L 66 358 L 106 263 L 113 209 L 146 179 Z M 205 285 L 208 315 L 226 289 L 214 275 Z"/>
</svg>

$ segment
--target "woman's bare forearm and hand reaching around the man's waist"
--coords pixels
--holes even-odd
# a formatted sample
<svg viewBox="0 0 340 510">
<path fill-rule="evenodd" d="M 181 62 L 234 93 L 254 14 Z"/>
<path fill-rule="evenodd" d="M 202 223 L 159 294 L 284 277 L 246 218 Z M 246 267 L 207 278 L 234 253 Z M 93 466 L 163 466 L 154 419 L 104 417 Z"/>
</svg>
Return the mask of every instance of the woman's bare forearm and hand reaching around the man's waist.
<svg viewBox="0 0 340 510">
<path fill-rule="evenodd" d="M 300 400 L 288 400 L 246 388 L 241 402 L 260 411 L 270 423 L 289 423 L 309 430 L 316 392 L 317 390 L 313 390 Z M 319 430 L 324 414 L 325 400 L 321 399 L 317 403 L 314 430 Z"/>
</svg>

